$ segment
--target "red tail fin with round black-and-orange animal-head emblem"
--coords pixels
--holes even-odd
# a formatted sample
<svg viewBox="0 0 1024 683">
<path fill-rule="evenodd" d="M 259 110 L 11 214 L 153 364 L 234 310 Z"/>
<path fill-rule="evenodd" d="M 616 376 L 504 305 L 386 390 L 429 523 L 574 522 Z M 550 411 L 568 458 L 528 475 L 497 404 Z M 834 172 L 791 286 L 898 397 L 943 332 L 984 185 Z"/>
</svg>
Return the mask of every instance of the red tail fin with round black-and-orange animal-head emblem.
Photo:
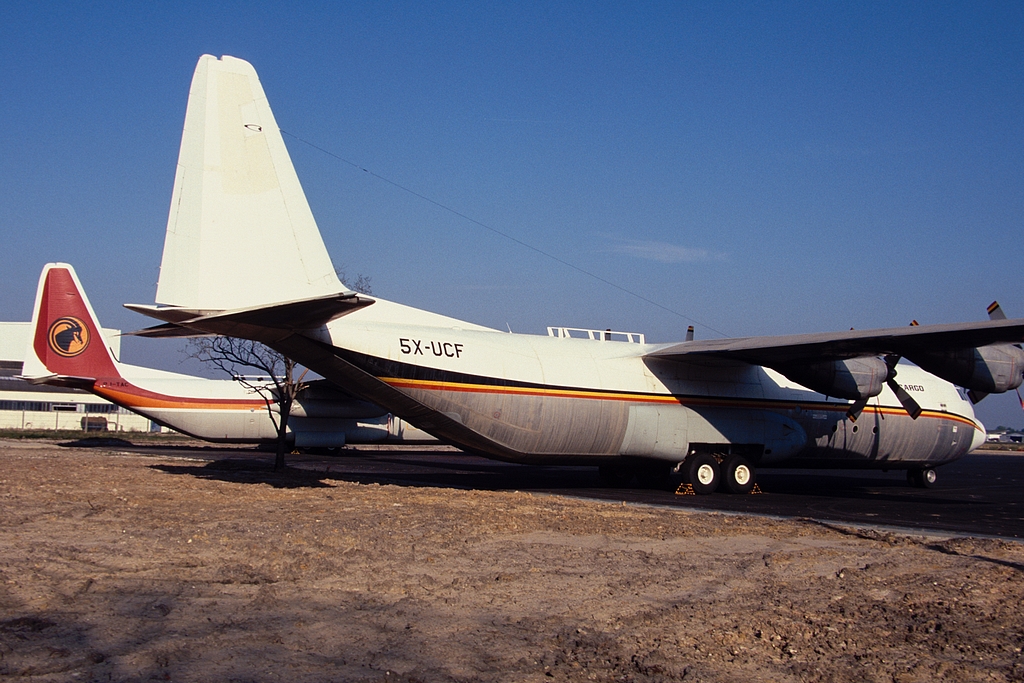
<svg viewBox="0 0 1024 683">
<path fill-rule="evenodd" d="M 39 275 L 22 377 L 75 386 L 119 377 L 119 365 L 75 268 L 47 263 Z"/>
</svg>

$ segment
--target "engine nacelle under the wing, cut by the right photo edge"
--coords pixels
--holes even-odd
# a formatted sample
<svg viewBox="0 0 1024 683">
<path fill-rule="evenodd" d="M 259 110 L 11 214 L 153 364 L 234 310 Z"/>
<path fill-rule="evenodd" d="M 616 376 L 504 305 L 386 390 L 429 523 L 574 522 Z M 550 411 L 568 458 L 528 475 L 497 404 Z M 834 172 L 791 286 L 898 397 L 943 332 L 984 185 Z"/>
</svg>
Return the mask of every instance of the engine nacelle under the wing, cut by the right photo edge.
<svg viewBox="0 0 1024 683">
<path fill-rule="evenodd" d="M 920 368 L 965 389 L 1002 393 L 1024 379 L 1024 351 L 1013 344 L 907 353 Z"/>
</svg>

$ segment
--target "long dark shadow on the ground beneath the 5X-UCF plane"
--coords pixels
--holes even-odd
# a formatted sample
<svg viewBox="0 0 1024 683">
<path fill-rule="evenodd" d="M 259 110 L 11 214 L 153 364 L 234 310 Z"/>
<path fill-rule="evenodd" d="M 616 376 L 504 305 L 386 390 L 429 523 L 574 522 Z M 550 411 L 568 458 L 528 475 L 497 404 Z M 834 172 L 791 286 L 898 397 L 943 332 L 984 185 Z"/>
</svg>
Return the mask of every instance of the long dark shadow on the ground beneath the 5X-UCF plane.
<svg viewBox="0 0 1024 683">
<path fill-rule="evenodd" d="M 340 458 L 294 456 L 290 466 L 280 472 L 273 470 L 272 458 L 266 454 L 224 455 L 225 458 L 212 462 L 164 462 L 150 467 L 175 476 L 276 488 L 324 488 L 333 482 L 344 481 L 410 488 L 521 490 L 708 512 L 769 514 L 1009 537 L 1024 535 L 1019 530 L 1018 511 L 1007 508 L 998 498 L 962 495 L 963 486 L 950 493 L 942 492 L 941 485 L 939 489 L 914 489 L 907 487 L 901 478 L 886 479 L 872 473 L 769 470 L 763 478 L 764 495 L 761 496 L 722 492 L 712 496 L 677 496 L 670 489 L 603 487 L 596 468 L 513 465 L 463 454 L 439 457 L 431 454 L 386 455 L 383 458 L 365 454 Z"/>
</svg>

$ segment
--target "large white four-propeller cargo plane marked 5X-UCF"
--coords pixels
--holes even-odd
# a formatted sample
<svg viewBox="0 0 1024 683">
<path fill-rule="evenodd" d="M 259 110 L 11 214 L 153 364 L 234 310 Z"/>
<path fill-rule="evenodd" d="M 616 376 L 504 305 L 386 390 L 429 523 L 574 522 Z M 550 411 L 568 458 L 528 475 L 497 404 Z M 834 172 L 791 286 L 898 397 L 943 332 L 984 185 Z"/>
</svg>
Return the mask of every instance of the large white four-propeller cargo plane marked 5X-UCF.
<svg viewBox="0 0 1024 683">
<path fill-rule="evenodd" d="M 967 393 L 1024 378 L 1024 319 L 647 344 L 511 334 L 357 294 L 255 70 L 230 56 L 204 55 L 193 77 L 156 301 L 126 304 L 165 322 L 144 334 L 261 341 L 467 452 L 623 482 L 675 470 L 701 494 L 749 492 L 776 465 L 906 469 L 931 485 L 984 441 Z"/>
</svg>

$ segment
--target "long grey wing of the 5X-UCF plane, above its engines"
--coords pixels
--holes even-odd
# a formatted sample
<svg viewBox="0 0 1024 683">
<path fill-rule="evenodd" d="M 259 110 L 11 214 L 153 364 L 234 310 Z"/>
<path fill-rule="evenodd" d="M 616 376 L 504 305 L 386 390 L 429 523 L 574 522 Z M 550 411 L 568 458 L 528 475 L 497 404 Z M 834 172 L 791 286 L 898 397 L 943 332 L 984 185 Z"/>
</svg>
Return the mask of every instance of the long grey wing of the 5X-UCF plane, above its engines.
<svg viewBox="0 0 1024 683">
<path fill-rule="evenodd" d="M 1024 340 L 1024 318 L 921 325 L 882 330 L 850 330 L 782 337 L 710 339 L 666 345 L 645 357 L 672 360 L 740 360 L 756 366 L 841 360 L 977 348 Z"/>
</svg>

